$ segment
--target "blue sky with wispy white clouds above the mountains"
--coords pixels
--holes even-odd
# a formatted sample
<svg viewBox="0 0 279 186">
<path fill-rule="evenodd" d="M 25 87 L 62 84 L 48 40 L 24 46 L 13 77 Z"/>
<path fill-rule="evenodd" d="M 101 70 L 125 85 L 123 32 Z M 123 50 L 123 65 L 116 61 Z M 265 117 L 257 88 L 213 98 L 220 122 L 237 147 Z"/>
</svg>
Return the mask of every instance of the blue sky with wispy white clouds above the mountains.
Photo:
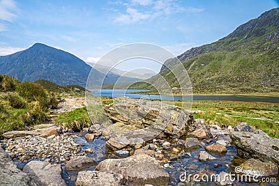
<svg viewBox="0 0 279 186">
<path fill-rule="evenodd" d="M 278 6 L 274 0 L 0 0 L 0 55 L 42 42 L 95 63 L 115 47 L 146 42 L 177 56 Z"/>
</svg>

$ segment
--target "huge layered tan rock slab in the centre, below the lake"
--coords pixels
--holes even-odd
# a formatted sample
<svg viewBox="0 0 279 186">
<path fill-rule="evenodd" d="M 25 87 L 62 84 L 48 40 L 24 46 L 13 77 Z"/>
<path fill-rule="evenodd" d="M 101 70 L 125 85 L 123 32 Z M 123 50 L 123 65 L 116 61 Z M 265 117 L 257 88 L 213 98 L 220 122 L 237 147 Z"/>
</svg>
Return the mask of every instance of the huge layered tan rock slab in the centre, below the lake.
<svg viewBox="0 0 279 186">
<path fill-rule="evenodd" d="M 173 138 L 195 130 L 193 116 L 188 111 L 165 103 L 116 98 L 104 109 L 110 120 L 123 123 L 119 126 L 123 130 L 144 129 L 155 132 L 155 137 L 163 132 Z"/>
</svg>

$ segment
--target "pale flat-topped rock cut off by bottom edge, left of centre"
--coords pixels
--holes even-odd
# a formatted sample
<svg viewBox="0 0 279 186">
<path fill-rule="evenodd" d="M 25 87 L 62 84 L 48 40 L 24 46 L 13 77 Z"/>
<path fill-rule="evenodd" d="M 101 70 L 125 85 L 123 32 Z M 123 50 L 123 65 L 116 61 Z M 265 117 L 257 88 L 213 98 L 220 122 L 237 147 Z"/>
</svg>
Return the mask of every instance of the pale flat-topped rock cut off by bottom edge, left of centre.
<svg viewBox="0 0 279 186">
<path fill-rule="evenodd" d="M 80 171 L 75 185 L 77 186 L 106 186 L 125 185 L 126 180 L 119 173 L 112 171 Z"/>
</svg>

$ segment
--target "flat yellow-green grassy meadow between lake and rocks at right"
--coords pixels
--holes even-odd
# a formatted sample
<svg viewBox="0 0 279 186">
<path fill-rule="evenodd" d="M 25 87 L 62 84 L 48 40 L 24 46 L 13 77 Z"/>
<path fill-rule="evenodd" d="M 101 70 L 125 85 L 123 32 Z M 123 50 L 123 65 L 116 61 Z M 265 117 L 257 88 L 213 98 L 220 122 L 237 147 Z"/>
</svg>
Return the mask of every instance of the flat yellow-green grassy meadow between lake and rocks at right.
<svg viewBox="0 0 279 186">
<path fill-rule="evenodd" d="M 278 103 L 194 101 L 192 109 L 203 111 L 193 114 L 194 118 L 204 118 L 208 123 L 216 121 L 223 126 L 234 126 L 246 122 L 271 137 L 279 138 L 279 123 L 276 123 L 279 121 Z M 268 120 L 262 120 L 264 118 Z"/>
</svg>

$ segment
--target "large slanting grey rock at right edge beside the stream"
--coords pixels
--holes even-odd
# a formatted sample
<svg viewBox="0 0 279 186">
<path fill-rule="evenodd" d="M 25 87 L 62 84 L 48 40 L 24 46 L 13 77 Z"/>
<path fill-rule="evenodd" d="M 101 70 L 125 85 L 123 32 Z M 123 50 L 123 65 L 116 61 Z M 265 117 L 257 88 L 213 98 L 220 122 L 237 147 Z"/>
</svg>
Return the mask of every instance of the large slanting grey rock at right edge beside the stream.
<svg viewBox="0 0 279 186">
<path fill-rule="evenodd" d="M 279 139 L 273 139 L 263 134 L 236 131 L 231 132 L 230 137 L 241 157 L 279 164 Z"/>
</svg>

